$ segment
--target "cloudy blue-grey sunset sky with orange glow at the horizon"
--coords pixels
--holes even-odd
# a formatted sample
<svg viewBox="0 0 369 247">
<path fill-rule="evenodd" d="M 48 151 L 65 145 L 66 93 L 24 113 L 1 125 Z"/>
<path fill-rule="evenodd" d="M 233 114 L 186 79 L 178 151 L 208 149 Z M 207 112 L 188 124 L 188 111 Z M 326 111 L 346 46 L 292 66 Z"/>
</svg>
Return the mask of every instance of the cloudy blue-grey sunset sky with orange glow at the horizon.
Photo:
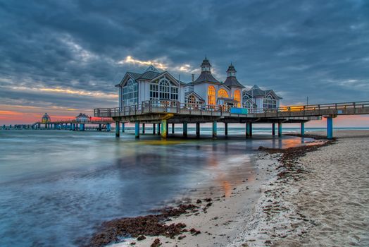
<svg viewBox="0 0 369 247">
<path fill-rule="evenodd" d="M 189 82 L 204 56 L 283 105 L 369 100 L 369 1 L 0 0 L 0 124 L 116 107 L 126 71 Z"/>
</svg>

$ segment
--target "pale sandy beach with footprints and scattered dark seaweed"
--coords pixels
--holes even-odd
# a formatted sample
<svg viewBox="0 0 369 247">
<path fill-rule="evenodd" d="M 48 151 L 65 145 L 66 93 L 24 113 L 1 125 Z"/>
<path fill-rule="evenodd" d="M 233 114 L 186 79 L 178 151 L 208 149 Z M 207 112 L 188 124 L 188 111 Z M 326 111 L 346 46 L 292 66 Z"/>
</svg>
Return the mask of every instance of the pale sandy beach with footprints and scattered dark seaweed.
<svg viewBox="0 0 369 247">
<path fill-rule="evenodd" d="M 201 233 L 111 246 L 151 246 L 155 239 L 162 246 L 369 246 L 369 131 L 334 134 L 333 143 L 304 155 L 259 152 L 254 181 L 210 204 L 194 198 L 199 210 L 166 223 Z"/>
</svg>

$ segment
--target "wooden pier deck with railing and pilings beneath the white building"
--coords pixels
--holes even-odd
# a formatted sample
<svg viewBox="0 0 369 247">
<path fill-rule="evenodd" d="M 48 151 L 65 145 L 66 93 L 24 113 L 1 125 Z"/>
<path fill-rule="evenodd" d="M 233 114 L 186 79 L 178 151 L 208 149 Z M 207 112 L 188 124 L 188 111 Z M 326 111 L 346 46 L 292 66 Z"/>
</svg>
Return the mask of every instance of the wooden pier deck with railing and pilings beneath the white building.
<svg viewBox="0 0 369 247">
<path fill-rule="evenodd" d="M 187 136 L 187 124 L 196 123 L 196 137 L 200 136 L 200 124 L 212 123 L 213 138 L 218 135 L 218 123 L 224 123 L 225 135 L 229 123 L 244 123 L 246 138 L 252 137 L 253 124 L 272 124 L 272 134 L 275 135 L 277 124 L 278 136 L 282 135 L 282 125 L 286 123 L 300 123 L 301 135 L 304 136 L 305 123 L 311 120 L 327 119 L 327 138 L 333 138 L 332 119 L 339 115 L 369 114 L 369 101 L 344 102 L 333 104 L 309 104 L 302 106 L 280 107 L 277 109 L 265 109 L 247 111 L 242 108 L 225 108 L 220 106 L 199 106 L 198 104 L 184 104 L 178 101 L 147 101 L 142 104 L 94 109 L 94 116 L 110 117 L 115 121 L 115 135 L 120 136 L 120 123 L 123 131 L 125 123 L 135 123 L 135 136 L 139 138 L 140 123 L 144 128 L 145 123 L 158 126 L 158 135 L 162 138 L 168 136 L 168 124 L 182 124 L 183 136 Z M 172 128 L 174 130 L 174 128 Z M 143 129 L 144 131 L 144 129 Z"/>
</svg>

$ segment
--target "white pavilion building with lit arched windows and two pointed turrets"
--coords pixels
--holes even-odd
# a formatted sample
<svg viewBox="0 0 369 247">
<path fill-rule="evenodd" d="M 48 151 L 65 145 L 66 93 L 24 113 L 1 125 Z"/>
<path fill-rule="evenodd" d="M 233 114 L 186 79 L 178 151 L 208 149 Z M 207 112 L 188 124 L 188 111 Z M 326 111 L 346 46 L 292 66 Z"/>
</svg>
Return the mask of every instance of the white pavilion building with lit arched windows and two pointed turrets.
<svg viewBox="0 0 369 247">
<path fill-rule="evenodd" d="M 211 74 L 211 64 L 204 59 L 200 76 L 183 83 L 167 71 L 160 72 L 149 66 L 144 73 L 127 72 L 118 85 L 119 107 L 143 104 L 170 104 L 180 102 L 184 107 L 244 107 L 254 110 L 276 109 L 281 97 L 273 90 L 261 90 L 254 85 L 245 90 L 238 82 L 236 70 L 231 64 L 227 69 L 225 82 L 220 82 Z"/>
</svg>

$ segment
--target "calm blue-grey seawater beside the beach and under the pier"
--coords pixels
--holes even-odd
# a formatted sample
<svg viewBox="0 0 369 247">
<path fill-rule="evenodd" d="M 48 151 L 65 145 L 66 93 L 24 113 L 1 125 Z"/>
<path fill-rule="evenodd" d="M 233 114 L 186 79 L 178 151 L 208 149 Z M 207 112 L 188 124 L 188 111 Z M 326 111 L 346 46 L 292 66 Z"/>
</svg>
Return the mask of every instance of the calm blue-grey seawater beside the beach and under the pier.
<svg viewBox="0 0 369 247">
<path fill-rule="evenodd" d="M 210 128 L 201 133 L 206 138 L 161 141 L 149 134 L 135 140 L 132 133 L 116 139 L 113 132 L 0 131 L 0 246 L 78 246 L 105 220 L 146 214 L 194 189 L 227 194 L 253 179 L 252 154 L 261 145 L 308 141 L 246 140 L 240 128 L 220 140 L 209 139 Z"/>
</svg>

